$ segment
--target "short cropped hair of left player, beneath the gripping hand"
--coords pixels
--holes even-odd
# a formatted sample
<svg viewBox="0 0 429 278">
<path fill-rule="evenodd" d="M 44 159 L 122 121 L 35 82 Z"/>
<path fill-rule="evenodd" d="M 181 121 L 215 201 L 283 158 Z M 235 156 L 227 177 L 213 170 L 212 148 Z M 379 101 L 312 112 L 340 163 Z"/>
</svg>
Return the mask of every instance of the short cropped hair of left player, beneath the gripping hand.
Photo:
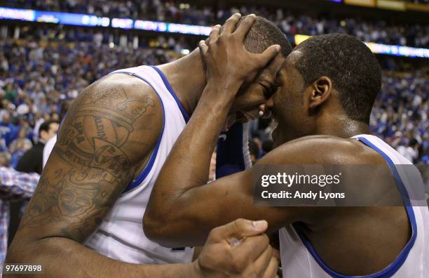
<svg viewBox="0 0 429 278">
<path fill-rule="evenodd" d="M 237 27 L 246 17 L 243 16 L 240 18 Z M 251 53 L 262 53 L 268 46 L 272 46 L 273 44 L 280 46 L 280 52 L 285 57 L 292 52 L 292 46 L 280 28 L 275 26 L 273 22 L 257 16 L 245 37 L 244 45 L 246 50 Z"/>
</svg>

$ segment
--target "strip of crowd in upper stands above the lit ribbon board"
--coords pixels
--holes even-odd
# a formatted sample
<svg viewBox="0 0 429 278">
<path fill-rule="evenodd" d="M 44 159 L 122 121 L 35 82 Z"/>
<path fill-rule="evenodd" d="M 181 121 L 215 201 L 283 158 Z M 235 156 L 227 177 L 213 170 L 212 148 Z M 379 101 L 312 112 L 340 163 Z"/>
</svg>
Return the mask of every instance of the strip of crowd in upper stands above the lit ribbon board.
<svg viewBox="0 0 429 278">
<path fill-rule="evenodd" d="M 46 11 L 90 13 L 110 18 L 133 18 L 180 22 L 191 25 L 213 25 L 224 22 L 232 13 L 256 13 L 275 22 L 285 34 L 353 34 L 362 41 L 429 48 L 429 25 L 395 24 L 362 18 L 335 18 L 327 14 L 294 14 L 282 8 L 241 6 L 226 10 L 203 8 L 177 1 L 101 1 L 101 0 L 6 0 L 4 5 Z"/>
</svg>

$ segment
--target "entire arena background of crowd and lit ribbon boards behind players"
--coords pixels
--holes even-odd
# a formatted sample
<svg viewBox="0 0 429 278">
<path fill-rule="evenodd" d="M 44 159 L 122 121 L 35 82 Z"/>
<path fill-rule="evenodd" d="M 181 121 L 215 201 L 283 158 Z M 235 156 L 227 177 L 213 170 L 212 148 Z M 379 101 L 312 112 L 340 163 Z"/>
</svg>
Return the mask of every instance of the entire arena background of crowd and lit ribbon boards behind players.
<svg viewBox="0 0 429 278">
<path fill-rule="evenodd" d="M 105 74 L 186 55 L 232 13 L 275 22 L 292 45 L 308 36 L 353 34 L 383 67 L 374 135 L 423 169 L 429 164 L 428 0 L 0 1 L 1 166 L 15 167 L 48 119 Z M 250 150 L 271 150 L 271 121 L 252 122 Z M 426 166 L 426 167 L 424 167 Z M 426 180 L 426 185 L 428 182 Z M 2 202 L 2 201 L 0 201 Z M 13 206 L 11 234 L 20 206 Z"/>
</svg>

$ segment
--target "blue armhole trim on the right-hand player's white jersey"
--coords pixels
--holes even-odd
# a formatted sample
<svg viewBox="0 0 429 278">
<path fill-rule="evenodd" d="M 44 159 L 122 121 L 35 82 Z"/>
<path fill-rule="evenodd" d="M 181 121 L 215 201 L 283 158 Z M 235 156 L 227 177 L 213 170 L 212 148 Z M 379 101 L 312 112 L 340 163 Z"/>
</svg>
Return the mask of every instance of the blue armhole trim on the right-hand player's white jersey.
<svg viewBox="0 0 429 278">
<path fill-rule="evenodd" d="M 367 140 L 367 138 L 359 137 L 359 138 L 357 138 L 357 140 L 362 141 L 362 143 L 364 143 L 368 147 L 371 147 L 373 150 L 375 150 L 376 152 L 381 154 L 381 156 L 388 163 L 390 171 L 392 171 L 392 173 L 393 173 L 393 177 L 395 178 L 395 182 L 397 184 L 397 187 L 399 187 L 398 189 L 400 190 L 401 194 L 402 194 L 402 192 L 404 192 L 404 194 L 402 194 L 402 199 L 405 203 L 404 207 L 405 207 L 405 210 L 407 211 L 408 218 L 409 218 L 409 221 L 411 223 L 411 230 L 412 230 L 411 239 L 409 239 L 407 244 L 404 246 L 404 249 L 402 249 L 400 254 L 395 258 L 395 260 L 393 260 L 393 263 L 391 263 L 388 267 L 386 267 L 385 269 L 383 269 L 379 272 L 376 272 L 374 274 L 370 274 L 370 275 L 366 275 L 366 276 L 359 276 L 359 277 L 365 277 L 365 278 L 392 277 L 393 274 L 395 274 L 397 272 L 397 270 L 399 270 L 400 267 L 404 264 L 405 260 L 407 260 L 407 256 L 409 254 L 409 251 L 411 251 L 411 248 L 414 246 L 414 242 L 416 241 L 416 237 L 417 237 L 416 217 L 414 216 L 414 211 L 413 211 L 413 208 L 412 208 L 410 201 L 409 201 L 407 189 L 405 188 L 404 183 L 402 182 L 402 179 L 401 179 L 399 173 L 397 172 L 397 169 L 396 169 L 395 164 L 393 163 L 392 159 L 390 159 L 390 157 L 386 153 L 384 153 L 382 150 L 380 150 L 374 144 L 369 142 L 369 140 Z M 331 275 L 334 278 L 352 277 L 352 276 L 339 274 L 338 272 L 334 272 L 334 270 L 331 270 L 327 265 L 325 265 L 323 260 L 318 256 L 318 253 L 315 251 L 315 249 L 311 245 L 311 242 L 308 239 L 308 237 L 306 237 L 306 235 L 303 232 L 301 232 L 298 227 L 294 226 L 294 229 L 297 231 L 297 234 L 301 238 L 301 241 L 306 246 L 308 251 L 310 251 L 310 253 L 313 256 L 313 258 L 315 259 L 315 261 L 318 262 L 320 267 L 322 267 L 322 269 L 325 270 L 325 272 L 327 272 L 327 274 Z"/>
</svg>

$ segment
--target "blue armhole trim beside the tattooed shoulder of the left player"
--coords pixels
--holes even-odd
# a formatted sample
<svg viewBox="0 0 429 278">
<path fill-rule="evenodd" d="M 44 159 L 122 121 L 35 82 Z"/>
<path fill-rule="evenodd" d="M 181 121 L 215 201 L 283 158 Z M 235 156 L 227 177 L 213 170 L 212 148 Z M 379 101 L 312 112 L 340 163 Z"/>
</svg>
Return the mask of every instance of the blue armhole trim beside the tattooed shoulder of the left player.
<svg viewBox="0 0 429 278">
<path fill-rule="evenodd" d="M 152 84 L 149 83 L 149 81 L 147 81 L 143 77 L 139 77 L 137 74 L 135 74 L 135 72 L 114 72 L 114 73 L 130 74 L 133 77 L 137 77 L 139 79 L 142 79 L 142 81 L 146 82 L 147 84 L 149 84 L 149 86 L 151 86 L 152 89 L 154 89 L 154 92 L 156 93 L 156 95 L 158 95 L 159 101 L 161 102 L 161 107 L 163 108 L 163 128 L 161 129 L 161 134 L 158 137 L 158 141 L 156 141 L 156 146 L 155 146 L 154 152 L 152 152 L 151 158 L 149 159 L 149 162 L 147 163 L 146 167 L 144 167 L 142 173 L 140 173 L 139 176 L 135 180 L 132 180 L 132 182 L 122 192 L 122 193 L 125 193 L 125 192 L 128 192 L 128 191 L 134 189 L 138 185 L 140 185 L 143 182 L 143 180 L 147 177 L 147 175 L 151 171 L 152 167 L 154 166 L 156 155 L 158 154 L 158 150 L 159 150 L 159 145 L 161 145 L 161 139 L 163 138 L 163 133 L 164 133 L 165 110 L 164 110 L 164 104 L 163 104 L 163 100 L 161 99 L 161 96 L 155 90 L 154 86 L 152 86 Z"/>
</svg>

